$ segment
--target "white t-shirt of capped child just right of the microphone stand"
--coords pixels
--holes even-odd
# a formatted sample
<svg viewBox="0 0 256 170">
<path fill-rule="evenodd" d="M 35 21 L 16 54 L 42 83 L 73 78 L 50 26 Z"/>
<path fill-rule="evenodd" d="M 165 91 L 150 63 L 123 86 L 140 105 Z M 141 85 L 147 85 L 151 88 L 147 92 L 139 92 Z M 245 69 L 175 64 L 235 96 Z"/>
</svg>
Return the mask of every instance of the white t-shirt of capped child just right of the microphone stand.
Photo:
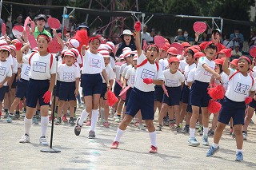
<svg viewBox="0 0 256 170">
<path fill-rule="evenodd" d="M 80 72 L 76 65 L 68 66 L 66 64 L 58 65 L 59 81 L 74 82 L 80 77 Z"/>
</svg>

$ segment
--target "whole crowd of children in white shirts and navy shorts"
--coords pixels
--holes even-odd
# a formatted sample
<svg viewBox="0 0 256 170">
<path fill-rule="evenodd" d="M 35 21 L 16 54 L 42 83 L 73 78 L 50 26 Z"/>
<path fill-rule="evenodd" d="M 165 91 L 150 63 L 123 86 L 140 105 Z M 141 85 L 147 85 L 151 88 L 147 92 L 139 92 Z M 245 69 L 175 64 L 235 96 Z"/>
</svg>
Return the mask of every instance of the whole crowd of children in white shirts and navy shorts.
<svg viewBox="0 0 256 170">
<path fill-rule="evenodd" d="M 67 41 L 53 30 L 62 46 L 61 54 L 56 56 L 49 51 L 52 38 L 43 30 L 45 16 L 38 15 L 36 23 L 42 31 L 34 34 L 37 42 L 34 49 L 25 34 L 13 41 L 6 36 L 0 38 L 0 101 L 4 101 L 6 121 L 11 123 L 17 119 L 21 101 L 26 104 L 25 132 L 20 143 L 30 142 L 32 119 L 40 110 L 39 142 L 48 144 L 46 130 L 53 117 L 53 113 L 49 117 L 49 106 L 54 93 L 57 104 L 55 125 L 67 121 L 69 110 L 69 123 L 74 125 L 76 136 L 86 122 L 90 125 L 88 137 L 95 138 L 97 122 L 108 128 L 109 114 L 115 113 L 114 121 L 120 124 L 110 146 L 112 149 L 118 148 L 131 121 L 142 130 L 148 129 L 150 153 L 158 152 L 156 131 L 162 131 L 166 123 L 178 133 L 190 133 L 188 144 L 194 147 L 200 144 L 196 138 L 199 125 L 203 145 L 209 146 L 208 136 L 214 136 L 206 153 L 206 156 L 214 156 L 219 150 L 224 128 L 230 125 L 237 143 L 236 160 L 243 160 L 243 140 L 246 140 L 247 128 L 256 109 L 255 60 L 242 56 L 230 61 L 231 50 L 220 43 L 221 30 L 212 31 L 211 42 L 182 43 L 182 53 L 167 41 L 161 48 L 150 44 L 143 45 L 145 48 L 142 49 L 140 22 L 135 23 L 134 33 L 123 31 L 122 42 L 118 45 L 104 42 L 98 35 L 89 37 L 90 29 L 86 26 L 78 30 L 85 33 L 84 37 L 74 36 Z M 81 39 L 87 42 L 83 43 Z M 79 85 L 86 109 L 75 122 Z M 210 88 L 216 87 L 223 90 L 223 97 L 218 100 L 209 93 Z M 108 91 L 118 97 L 118 102 L 111 107 L 107 102 Z M 221 108 L 216 109 L 219 105 Z M 2 110 L 2 105 L 0 108 Z M 213 108 L 216 111 L 209 128 Z M 153 121 L 157 109 L 158 125 L 155 128 Z"/>
</svg>

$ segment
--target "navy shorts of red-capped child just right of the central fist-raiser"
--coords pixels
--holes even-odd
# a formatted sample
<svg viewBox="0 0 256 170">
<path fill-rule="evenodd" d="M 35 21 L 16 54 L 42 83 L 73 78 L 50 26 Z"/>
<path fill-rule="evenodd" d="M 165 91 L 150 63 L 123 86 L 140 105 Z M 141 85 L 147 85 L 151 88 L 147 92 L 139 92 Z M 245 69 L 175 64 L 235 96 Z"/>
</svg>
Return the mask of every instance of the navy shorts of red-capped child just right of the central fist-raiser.
<svg viewBox="0 0 256 170">
<path fill-rule="evenodd" d="M 179 99 L 181 97 L 182 89 L 181 86 L 178 87 L 166 87 L 169 97 L 166 94 L 163 95 L 163 103 L 167 105 L 179 105 Z"/>
</svg>

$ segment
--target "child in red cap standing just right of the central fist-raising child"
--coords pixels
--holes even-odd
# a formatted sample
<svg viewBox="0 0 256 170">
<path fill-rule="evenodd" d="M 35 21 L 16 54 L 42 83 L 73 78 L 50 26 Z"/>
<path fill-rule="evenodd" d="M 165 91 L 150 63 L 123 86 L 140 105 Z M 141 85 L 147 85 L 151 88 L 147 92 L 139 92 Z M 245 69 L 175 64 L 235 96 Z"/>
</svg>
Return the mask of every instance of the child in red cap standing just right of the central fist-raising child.
<svg viewBox="0 0 256 170">
<path fill-rule="evenodd" d="M 163 104 L 162 107 L 168 105 L 168 107 L 173 107 L 176 123 L 177 123 L 177 132 L 182 132 L 182 128 L 179 125 L 180 122 L 180 115 L 179 115 L 179 99 L 181 96 L 182 86 L 184 84 L 185 78 L 183 74 L 178 71 L 179 67 L 179 60 L 177 57 L 171 57 L 169 60 L 169 68 L 163 71 L 163 75 L 165 77 L 165 85 L 162 85 L 162 89 L 164 91 L 163 96 Z M 159 115 L 159 126 L 158 130 L 162 128 L 162 120 L 164 117 L 165 112 L 160 111 Z M 170 120 L 173 120 L 174 114 L 171 114 Z"/>
</svg>

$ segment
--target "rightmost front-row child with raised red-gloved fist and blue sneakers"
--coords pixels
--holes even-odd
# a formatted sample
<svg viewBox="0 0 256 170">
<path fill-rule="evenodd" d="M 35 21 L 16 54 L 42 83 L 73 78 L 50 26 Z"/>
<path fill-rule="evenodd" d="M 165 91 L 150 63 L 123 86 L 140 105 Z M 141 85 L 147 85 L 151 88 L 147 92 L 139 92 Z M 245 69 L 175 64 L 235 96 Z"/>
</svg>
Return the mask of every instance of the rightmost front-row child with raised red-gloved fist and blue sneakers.
<svg viewBox="0 0 256 170">
<path fill-rule="evenodd" d="M 228 68 L 228 57 L 230 56 L 230 53 L 226 54 L 226 60 L 223 64 L 223 71 L 228 75 L 230 85 L 226 90 L 226 97 L 222 102 L 222 109 L 218 117 L 218 125 L 214 132 L 214 143 L 206 153 L 206 156 L 214 156 L 214 154 L 218 152 L 218 143 L 222 137 L 222 132 L 232 117 L 234 121 L 235 140 L 237 143 L 235 160 L 241 161 L 243 160 L 242 125 L 244 124 L 246 104 L 252 101 L 252 97 L 254 97 L 255 94 L 255 82 L 253 77 L 247 73 L 252 63 L 250 58 L 245 56 L 239 57 L 238 71 L 236 71 Z"/>
</svg>

